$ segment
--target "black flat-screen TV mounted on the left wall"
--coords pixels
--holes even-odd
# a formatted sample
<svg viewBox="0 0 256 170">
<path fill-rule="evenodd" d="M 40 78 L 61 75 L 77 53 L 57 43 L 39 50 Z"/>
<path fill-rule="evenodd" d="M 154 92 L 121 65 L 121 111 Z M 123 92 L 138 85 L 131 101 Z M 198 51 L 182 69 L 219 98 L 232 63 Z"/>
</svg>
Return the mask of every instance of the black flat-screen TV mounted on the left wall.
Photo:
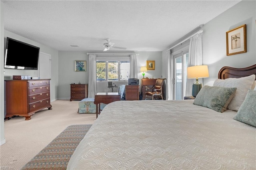
<svg viewBox="0 0 256 170">
<path fill-rule="evenodd" d="M 4 68 L 38 69 L 39 47 L 6 38 Z"/>
</svg>

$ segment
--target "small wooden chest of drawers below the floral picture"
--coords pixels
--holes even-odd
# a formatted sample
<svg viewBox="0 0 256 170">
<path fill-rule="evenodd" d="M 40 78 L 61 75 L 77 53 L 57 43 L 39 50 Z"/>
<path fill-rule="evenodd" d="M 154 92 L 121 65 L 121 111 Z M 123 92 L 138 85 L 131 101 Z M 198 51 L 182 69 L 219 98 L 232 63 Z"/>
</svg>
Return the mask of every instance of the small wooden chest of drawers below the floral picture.
<svg viewBox="0 0 256 170">
<path fill-rule="evenodd" d="M 70 101 L 88 97 L 88 84 L 70 84 Z"/>
</svg>

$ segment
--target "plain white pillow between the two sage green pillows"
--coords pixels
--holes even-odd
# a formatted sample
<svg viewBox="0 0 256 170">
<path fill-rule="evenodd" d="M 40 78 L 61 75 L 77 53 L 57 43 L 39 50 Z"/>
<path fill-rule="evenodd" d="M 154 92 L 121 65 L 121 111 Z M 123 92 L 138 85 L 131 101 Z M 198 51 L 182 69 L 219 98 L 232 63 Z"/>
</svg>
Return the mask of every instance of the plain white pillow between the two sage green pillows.
<svg viewBox="0 0 256 170">
<path fill-rule="evenodd" d="M 255 83 L 255 75 L 250 75 L 247 77 L 241 78 L 228 78 L 228 79 L 216 79 L 213 83 L 213 86 L 218 87 L 236 87 L 236 93 L 229 103 L 227 109 L 238 111 L 240 106 L 242 105 L 247 91 L 253 87 Z"/>
</svg>

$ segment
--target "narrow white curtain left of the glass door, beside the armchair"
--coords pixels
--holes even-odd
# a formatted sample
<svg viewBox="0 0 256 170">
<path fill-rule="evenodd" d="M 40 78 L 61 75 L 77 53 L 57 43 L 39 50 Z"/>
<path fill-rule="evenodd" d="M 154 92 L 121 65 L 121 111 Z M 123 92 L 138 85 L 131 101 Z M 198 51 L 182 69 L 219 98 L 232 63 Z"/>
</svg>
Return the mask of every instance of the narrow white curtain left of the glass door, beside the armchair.
<svg viewBox="0 0 256 170">
<path fill-rule="evenodd" d="M 171 59 L 171 51 L 168 50 L 166 51 L 165 54 L 165 61 L 166 61 L 166 100 L 173 100 L 173 93 L 172 93 L 172 89 L 173 89 L 173 69 L 171 68 L 173 65 L 173 60 Z"/>
</svg>

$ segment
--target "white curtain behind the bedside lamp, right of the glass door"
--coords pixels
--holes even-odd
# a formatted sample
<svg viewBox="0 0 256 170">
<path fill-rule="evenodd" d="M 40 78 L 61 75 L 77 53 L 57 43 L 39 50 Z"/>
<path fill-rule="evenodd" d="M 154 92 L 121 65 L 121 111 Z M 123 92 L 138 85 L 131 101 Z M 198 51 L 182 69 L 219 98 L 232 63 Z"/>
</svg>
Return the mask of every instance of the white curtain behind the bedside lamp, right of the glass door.
<svg viewBox="0 0 256 170">
<path fill-rule="evenodd" d="M 190 38 L 188 67 L 203 64 L 203 44 L 202 33 L 196 34 Z M 192 85 L 194 79 L 187 79 L 186 96 L 192 96 Z"/>
</svg>

